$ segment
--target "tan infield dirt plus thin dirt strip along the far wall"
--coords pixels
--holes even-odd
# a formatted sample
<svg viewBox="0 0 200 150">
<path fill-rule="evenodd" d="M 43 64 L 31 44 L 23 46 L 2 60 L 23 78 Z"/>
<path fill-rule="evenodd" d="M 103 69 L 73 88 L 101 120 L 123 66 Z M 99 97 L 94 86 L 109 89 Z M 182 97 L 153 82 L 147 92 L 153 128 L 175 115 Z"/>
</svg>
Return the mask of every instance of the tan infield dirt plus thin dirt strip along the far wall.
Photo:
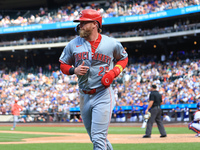
<svg viewBox="0 0 200 150">
<path fill-rule="evenodd" d="M 130 124 L 111 124 L 111 126 L 129 126 Z M 140 126 L 140 124 L 134 124 Z M 1 125 L 1 126 L 5 126 Z M 10 125 L 8 125 L 10 126 Z M 47 124 L 28 124 L 18 126 L 47 126 Z M 48 124 L 48 126 L 83 126 L 83 124 Z M 133 125 L 130 125 L 133 126 Z M 185 127 L 186 124 L 169 124 L 167 127 Z M 54 133 L 54 132 L 24 132 L 24 131 L 0 131 L 0 133 L 23 133 L 23 134 L 41 134 L 41 135 L 63 135 L 61 137 L 40 137 L 27 138 L 22 142 L 0 142 L 0 144 L 25 144 L 25 143 L 91 143 L 89 136 L 85 133 Z M 142 138 L 142 135 L 133 134 L 108 134 L 111 143 L 189 143 L 200 142 L 200 138 L 195 134 L 168 134 L 166 138 L 160 138 L 159 134 L 153 134 L 151 138 Z"/>
</svg>

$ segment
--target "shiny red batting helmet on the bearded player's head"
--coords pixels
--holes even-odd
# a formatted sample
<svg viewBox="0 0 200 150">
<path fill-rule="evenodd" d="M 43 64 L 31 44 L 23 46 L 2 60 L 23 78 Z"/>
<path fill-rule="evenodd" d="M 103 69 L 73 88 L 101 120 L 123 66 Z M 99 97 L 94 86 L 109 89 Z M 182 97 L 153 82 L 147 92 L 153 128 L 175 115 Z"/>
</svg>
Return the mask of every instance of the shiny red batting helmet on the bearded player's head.
<svg viewBox="0 0 200 150">
<path fill-rule="evenodd" d="M 74 20 L 74 22 L 80 21 L 97 21 L 99 23 L 99 27 L 102 27 L 102 16 L 98 11 L 94 9 L 82 10 L 79 18 Z"/>
</svg>

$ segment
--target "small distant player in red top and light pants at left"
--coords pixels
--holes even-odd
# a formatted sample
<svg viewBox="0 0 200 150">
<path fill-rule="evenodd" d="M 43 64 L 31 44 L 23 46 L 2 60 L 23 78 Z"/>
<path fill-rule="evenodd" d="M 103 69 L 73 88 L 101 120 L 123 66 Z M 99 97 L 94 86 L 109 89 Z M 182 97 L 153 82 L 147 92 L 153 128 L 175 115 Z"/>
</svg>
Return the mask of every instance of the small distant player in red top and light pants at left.
<svg viewBox="0 0 200 150">
<path fill-rule="evenodd" d="M 17 104 L 18 100 L 15 100 L 14 105 L 12 106 L 12 114 L 13 114 L 13 127 L 11 130 L 15 130 L 16 124 L 18 122 L 18 116 L 20 115 L 20 110 L 22 111 L 23 108 Z"/>
</svg>

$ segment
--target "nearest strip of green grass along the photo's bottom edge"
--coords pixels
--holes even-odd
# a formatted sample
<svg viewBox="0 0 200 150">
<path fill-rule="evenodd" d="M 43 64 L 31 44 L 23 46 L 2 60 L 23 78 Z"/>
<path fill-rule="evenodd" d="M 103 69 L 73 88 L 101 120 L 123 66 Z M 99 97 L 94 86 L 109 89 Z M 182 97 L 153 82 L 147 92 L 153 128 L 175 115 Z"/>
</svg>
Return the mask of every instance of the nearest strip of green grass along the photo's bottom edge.
<svg viewBox="0 0 200 150">
<path fill-rule="evenodd" d="M 112 144 L 114 150 L 198 150 L 199 143 Z M 1 150 L 92 150 L 90 143 L 0 145 Z"/>
</svg>

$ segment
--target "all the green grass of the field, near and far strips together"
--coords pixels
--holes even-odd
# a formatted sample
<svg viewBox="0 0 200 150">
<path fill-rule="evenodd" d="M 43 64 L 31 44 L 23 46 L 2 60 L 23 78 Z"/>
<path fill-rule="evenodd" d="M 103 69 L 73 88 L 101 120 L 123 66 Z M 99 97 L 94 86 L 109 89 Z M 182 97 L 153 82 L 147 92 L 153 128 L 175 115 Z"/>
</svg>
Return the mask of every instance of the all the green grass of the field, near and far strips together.
<svg viewBox="0 0 200 150">
<path fill-rule="evenodd" d="M 194 134 L 187 127 L 165 127 L 167 134 Z M 10 127 L 0 126 L 0 131 L 10 131 Z M 86 133 L 84 127 L 17 127 L 15 131 Z M 12 132 L 12 131 L 11 131 Z M 141 134 L 145 129 L 140 127 L 109 127 L 109 134 Z M 154 127 L 152 134 L 159 134 Z M 53 135 L 33 135 L 18 133 L 0 133 L 0 142 L 21 141 L 24 138 L 47 137 Z M 144 143 L 112 144 L 114 150 L 197 150 L 199 143 Z M 92 150 L 92 143 L 36 143 L 36 144 L 1 144 L 0 150 Z"/>
</svg>

